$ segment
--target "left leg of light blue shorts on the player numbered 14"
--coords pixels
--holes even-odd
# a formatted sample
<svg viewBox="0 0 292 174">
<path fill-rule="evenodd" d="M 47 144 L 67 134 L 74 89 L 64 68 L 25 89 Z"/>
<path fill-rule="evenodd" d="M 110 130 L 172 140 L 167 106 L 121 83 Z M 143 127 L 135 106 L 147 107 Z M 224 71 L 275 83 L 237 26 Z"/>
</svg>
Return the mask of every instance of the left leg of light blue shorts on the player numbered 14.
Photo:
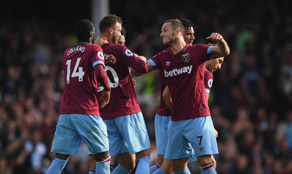
<svg viewBox="0 0 292 174">
<path fill-rule="evenodd" d="M 70 122 L 70 114 L 61 114 L 58 119 L 51 152 L 76 155 L 82 138 Z"/>
</svg>

